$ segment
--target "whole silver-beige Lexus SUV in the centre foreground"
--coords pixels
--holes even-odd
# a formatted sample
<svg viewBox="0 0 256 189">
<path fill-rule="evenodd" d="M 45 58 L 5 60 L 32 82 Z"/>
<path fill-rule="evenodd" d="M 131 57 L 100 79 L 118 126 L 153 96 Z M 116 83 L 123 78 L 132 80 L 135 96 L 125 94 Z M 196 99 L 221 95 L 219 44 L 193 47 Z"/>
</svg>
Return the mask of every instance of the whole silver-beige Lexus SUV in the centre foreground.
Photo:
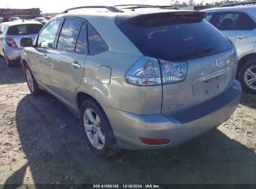
<svg viewBox="0 0 256 189">
<path fill-rule="evenodd" d="M 173 147 L 234 113 L 237 53 L 203 12 L 82 8 L 109 12 L 62 12 L 34 44 L 21 39 L 21 63 L 31 93 L 79 116 L 95 153 Z"/>
</svg>

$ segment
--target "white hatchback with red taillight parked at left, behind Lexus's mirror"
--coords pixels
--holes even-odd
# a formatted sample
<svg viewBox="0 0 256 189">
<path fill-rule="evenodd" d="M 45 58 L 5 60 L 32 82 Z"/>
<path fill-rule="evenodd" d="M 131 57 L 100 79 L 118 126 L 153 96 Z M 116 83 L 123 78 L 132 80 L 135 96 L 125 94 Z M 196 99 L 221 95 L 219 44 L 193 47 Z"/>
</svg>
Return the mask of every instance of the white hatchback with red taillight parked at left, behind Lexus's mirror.
<svg viewBox="0 0 256 189">
<path fill-rule="evenodd" d="M 21 59 L 23 47 L 20 44 L 22 37 L 36 38 L 42 29 L 42 24 L 36 21 L 3 22 L 0 24 L 0 55 L 6 58 L 10 67 L 14 60 Z"/>
</svg>

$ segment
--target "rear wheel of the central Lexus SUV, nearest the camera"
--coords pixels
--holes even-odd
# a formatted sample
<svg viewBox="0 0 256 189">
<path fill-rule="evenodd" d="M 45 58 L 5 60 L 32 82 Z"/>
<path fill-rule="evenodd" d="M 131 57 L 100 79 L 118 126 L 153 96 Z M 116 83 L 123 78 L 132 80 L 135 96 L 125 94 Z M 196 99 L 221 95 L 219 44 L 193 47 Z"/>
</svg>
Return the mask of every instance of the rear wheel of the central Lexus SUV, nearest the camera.
<svg viewBox="0 0 256 189">
<path fill-rule="evenodd" d="M 116 141 L 110 122 L 95 99 L 90 98 L 83 102 L 80 121 L 87 144 L 95 154 L 106 157 L 116 152 Z"/>
</svg>

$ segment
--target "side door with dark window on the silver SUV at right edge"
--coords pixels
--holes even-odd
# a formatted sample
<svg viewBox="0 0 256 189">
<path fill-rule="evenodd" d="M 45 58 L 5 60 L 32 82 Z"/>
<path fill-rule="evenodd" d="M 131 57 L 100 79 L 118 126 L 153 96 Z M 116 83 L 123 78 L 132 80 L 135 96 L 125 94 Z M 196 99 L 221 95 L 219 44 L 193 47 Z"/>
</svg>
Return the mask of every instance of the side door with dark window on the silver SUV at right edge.
<svg viewBox="0 0 256 189">
<path fill-rule="evenodd" d="M 252 50 L 256 41 L 255 21 L 245 12 L 228 11 L 216 15 L 214 26 L 226 35 L 237 48 L 237 54 Z"/>
</svg>

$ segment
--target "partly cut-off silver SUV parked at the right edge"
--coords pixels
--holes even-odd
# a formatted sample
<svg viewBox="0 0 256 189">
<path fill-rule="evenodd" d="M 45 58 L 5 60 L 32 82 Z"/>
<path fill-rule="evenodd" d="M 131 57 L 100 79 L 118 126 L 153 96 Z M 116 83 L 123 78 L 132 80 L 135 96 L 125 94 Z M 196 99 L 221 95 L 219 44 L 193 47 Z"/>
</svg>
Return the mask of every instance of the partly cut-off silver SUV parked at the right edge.
<svg viewBox="0 0 256 189">
<path fill-rule="evenodd" d="M 237 79 L 244 90 L 256 94 L 256 5 L 227 4 L 203 11 L 206 20 L 234 43 L 239 58 Z"/>
</svg>

